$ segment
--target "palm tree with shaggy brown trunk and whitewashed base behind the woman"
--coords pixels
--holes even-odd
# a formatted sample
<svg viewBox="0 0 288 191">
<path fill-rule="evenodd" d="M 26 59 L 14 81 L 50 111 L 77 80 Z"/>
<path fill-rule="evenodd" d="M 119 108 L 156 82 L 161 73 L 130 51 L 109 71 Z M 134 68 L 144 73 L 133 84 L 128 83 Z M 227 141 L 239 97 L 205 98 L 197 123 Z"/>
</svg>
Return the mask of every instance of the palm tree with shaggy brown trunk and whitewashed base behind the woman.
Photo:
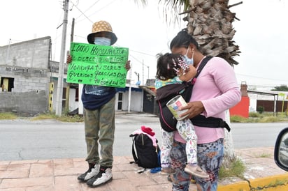
<svg viewBox="0 0 288 191">
<path fill-rule="evenodd" d="M 147 1 L 141 0 L 141 2 L 147 5 Z M 160 2 L 164 3 L 164 16 L 168 17 L 170 14 L 170 22 L 175 22 L 178 15 L 186 14 L 183 20 L 188 22 L 188 32 L 199 43 L 203 54 L 222 57 L 231 66 L 238 64 L 233 59 L 233 56 L 238 56 L 240 51 L 233 41 L 236 31 L 232 26 L 232 22 L 238 18 L 229 8 L 242 2 L 233 5 L 229 5 L 229 0 L 159 0 Z M 230 123 L 229 111 L 226 112 L 226 121 Z M 224 151 L 224 167 L 229 167 L 236 156 L 231 133 L 228 132 L 225 136 Z"/>
</svg>

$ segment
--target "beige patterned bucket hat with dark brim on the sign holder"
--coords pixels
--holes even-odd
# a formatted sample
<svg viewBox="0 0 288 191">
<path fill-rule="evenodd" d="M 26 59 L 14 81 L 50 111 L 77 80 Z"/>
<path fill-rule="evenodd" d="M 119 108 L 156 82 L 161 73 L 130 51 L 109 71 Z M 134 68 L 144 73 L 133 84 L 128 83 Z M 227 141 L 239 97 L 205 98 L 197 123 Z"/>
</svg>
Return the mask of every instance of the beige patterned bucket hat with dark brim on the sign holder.
<svg viewBox="0 0 288 191">
<path fill-rule="evenodd" d="M 92 26 L 92 33 L 87 36 L 87 40 L 90 44 L 94 44 L 94 34 L 99 32 L 108 32 L 111 34 L 111 45 L 116 43 L 117 36 L 113 33 L 111 25 L 106 21 L 95 22 Z"/>
</svg>

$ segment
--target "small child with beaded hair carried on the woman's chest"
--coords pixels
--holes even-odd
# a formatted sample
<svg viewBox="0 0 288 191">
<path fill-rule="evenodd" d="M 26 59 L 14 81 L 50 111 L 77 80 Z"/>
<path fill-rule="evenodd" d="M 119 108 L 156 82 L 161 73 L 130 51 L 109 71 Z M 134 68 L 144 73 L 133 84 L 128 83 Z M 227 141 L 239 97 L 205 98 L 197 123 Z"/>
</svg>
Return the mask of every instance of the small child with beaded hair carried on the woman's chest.
<svg viewBox="0 0 288 191">
<path fill-rule="evenodd" d="M 195 75 L 196 68 L 192 64 L 187 64 L 185 56 L 170 53 L 158 54 L 157 79 L 155 81 L 156 90 L 171 84 L 190 82 Z M 197 136 L 190 119 L 178 121 L 176 129 L 186 141 L 187 164 L 185 171 L 200 178 L 209 178 L 208 174 L 197 165 Z M 163 140 L 161 146 L 161 171 L 166 174 L 172 174 L 175 170 L 171 168 L 170 151 L 173 144 L 174 132 L 167 132 L 164 128 L 161 128 L 161 136 Z"/>
</svg>

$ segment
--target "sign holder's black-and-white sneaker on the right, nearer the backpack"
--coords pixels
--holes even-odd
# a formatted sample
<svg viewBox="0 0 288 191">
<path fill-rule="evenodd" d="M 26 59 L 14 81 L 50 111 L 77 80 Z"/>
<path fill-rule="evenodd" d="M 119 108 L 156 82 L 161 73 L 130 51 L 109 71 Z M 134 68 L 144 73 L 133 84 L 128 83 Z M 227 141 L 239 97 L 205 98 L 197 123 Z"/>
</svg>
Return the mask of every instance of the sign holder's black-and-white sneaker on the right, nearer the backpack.
<svg viewBox="0 0 288 191">
<path fill-rule="evenodd" d="M 96 176 L 87 181 L 87 185 L 94 188 L 109 181 L 112 181 L 112 169 L 107 168 L 105 171 L 99 171 Z"/>
</svg>

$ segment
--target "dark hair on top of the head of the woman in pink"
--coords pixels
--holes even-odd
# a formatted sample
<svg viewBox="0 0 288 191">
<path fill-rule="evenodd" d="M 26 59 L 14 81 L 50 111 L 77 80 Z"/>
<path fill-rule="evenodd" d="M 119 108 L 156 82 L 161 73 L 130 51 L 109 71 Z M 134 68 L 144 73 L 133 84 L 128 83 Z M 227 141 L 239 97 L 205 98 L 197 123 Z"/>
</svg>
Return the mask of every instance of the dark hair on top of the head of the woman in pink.
<svg viewBox="0 0 288 191">
<path fill-rule="evenodd" d="M 185 47 L 188 48 L 190 43 L 196 46 L 196 49 L 199 49 L 199 45 L 193 36 L 189 35 L 187 29 L 182 29 L 177 36 L 173 38 L 170 43 L 170 49 L 173 47 Z"/>
</svg>

